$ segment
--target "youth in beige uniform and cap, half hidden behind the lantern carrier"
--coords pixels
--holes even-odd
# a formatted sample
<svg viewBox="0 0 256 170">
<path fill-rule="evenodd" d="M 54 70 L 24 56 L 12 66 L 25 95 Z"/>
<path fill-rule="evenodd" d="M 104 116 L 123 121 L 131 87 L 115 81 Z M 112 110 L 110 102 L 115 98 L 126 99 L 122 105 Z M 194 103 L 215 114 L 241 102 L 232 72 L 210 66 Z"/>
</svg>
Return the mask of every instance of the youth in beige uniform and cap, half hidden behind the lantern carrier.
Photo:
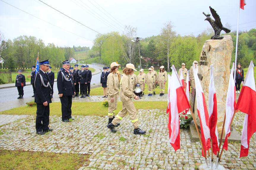
<svg viewBox="0 0 256 170">
<path fill-rule="evenodd" d="M 109 123 L 112 122 L 112 120 L 115 118 L 115 110 L 117 109 L 117 100 L 118 100 L 118 75 L 117 75 L 117 70 L 118 66 L 120 64 L 117 64 L 116 62 L 112 62 L 110 64 L 110 72 L 107 77 L 107 95 L 108 95 L 108 103 L 109 103 L 109 110 L 108 110 L 108 118 L 109 118 Z M 120 124 L 117 124 L 117 126 Z"/>
</svg>

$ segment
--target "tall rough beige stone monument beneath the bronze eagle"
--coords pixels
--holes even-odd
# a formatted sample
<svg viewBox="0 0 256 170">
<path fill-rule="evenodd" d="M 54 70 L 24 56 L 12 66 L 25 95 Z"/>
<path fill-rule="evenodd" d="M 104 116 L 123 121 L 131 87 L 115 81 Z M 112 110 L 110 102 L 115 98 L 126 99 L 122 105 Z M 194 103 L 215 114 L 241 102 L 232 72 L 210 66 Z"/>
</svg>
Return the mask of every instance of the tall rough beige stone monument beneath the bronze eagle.
<svg viewBox="0 0 256 170">
<path fill-rule="evenodd" d="M 198 62 L 198 75 L 201 75 L 202 78 L 200 82 L 203 88 L 207 108 L 209 100 L 210 65 L 213 64 L 214 67 L 214 86 L 216 90 L 218 111 L 217 130 L 219 134 L 222 130 L 226 110 L 232 50 L 233 41 L 230 35 L 224 35 L 224 38 L 221 40 L 206 40 Z M 197 108 L 196 102 L 195 108 Z M 197 109 L 195 109 L 195 118 L 197 125 L 200 126 Z"/>
</svg>

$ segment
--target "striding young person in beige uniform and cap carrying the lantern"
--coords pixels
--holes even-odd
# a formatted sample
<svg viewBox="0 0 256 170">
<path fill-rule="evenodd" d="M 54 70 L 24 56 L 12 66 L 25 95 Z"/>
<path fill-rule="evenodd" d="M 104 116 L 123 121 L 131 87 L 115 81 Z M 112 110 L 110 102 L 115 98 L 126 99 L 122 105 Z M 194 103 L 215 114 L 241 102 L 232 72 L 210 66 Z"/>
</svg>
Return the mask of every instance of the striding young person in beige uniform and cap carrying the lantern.
<svg viewBox="0 0 256 170">
<path fill-rule="evenodd" d="M 119 111 L 115 119 L 112 120 L 112 123 L 107 125 L 107 127 L 113 133 L 116 132 L 115 125 L 117 125 L 117 123 L 119 123 L 123 119 L 123 117 L 127 114 L 127 112 L 131 117 L 131 121 L 133 124 L 133 128 L 134 128 L 133 134 L 136 135 L 136 134 L 146 133 L 144 130 L 141 130 L 139 128 L 138 115 L 132 101 L 132 98 L 134 98 L 135 100 L 139 100 L 139 97 L 133 93 L 131 78 L 129 76 L 133 74 L 134 72 L 133 70 L 137 71 L 134 68 L 134 65 L 131 63 L 126 64 L 126 67 L 123 69 L 123 77 L 121 78 L 121 81 L 120 81 L 120 99 L 122 101 L 123 108 L 121 111 Z"/>
</svg>

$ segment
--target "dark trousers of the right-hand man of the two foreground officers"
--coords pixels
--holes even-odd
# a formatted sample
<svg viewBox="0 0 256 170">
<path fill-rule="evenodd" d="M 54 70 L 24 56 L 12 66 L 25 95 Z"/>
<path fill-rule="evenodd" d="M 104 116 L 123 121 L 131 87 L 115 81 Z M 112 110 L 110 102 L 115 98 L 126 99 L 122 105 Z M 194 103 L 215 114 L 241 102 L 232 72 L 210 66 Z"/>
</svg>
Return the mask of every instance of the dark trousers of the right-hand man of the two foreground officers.
<svg viewBox="0 0 256 170">
<path fill-rule="evenodd" d="M 60 99 L 62 120 L 71 119 L 72 95 L 63 95 Z"/>
</svg>

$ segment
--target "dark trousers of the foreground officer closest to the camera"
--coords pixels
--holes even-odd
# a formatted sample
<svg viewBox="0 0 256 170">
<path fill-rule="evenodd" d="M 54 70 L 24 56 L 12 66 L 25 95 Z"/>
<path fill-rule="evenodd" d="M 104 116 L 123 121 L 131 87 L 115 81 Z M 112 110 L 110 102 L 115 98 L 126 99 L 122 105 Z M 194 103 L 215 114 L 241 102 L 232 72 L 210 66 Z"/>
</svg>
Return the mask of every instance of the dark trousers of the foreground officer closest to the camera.
<svg viewBox="0 0 256 170">
<path fill-rule="evenodd" d="M 44 106 L 42 103 L 36 104 L 36 132 L 47 131 L 49 129 L 50 105 Z"/>
</svg>

